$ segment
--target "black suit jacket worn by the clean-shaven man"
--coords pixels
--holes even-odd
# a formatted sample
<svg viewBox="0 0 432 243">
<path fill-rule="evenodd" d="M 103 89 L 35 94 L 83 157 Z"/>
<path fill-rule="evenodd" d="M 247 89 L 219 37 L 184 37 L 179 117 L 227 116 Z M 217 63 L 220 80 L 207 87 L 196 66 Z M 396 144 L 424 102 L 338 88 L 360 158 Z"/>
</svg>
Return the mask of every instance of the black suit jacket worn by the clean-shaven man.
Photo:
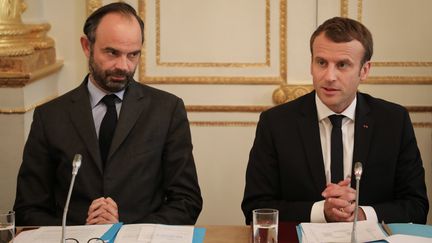
<svg viewBox="0 0 432 243">
<path fill-rule="evenodd" d="M 380 222 L 425 223 L 424 169 L 408 112 L 358 93 L 355 116 L 360 205 L 372 206 Z M 325 187 L 315 92 L 263 112 L 246 172 L 246 223 L 256 208 L 276 208 L 282 221 L 308 222 Z"/>
</svg>

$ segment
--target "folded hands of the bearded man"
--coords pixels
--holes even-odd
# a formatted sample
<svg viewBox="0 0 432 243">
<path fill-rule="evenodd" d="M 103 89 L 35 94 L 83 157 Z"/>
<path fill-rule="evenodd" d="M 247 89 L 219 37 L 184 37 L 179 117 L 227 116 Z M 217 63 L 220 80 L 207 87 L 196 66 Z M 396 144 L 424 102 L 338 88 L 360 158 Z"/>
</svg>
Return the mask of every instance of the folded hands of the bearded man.
<svg viewBox="0 0 432 243">
<path fill-rule="evenodd" d="M 110 197 L 93 200 L 87 215 L 86 224 L 113 224 L 119 218 L 117 204 Z"/>
</svg>

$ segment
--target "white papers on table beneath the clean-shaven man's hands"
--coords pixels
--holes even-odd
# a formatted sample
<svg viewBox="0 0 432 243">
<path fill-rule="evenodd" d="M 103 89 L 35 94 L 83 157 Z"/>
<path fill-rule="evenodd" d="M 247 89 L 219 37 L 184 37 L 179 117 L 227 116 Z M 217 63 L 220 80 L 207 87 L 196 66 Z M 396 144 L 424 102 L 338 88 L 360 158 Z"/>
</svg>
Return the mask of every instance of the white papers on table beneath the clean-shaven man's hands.
<svg viewBox="0 0 432 243">
<path fill-rule="evenodd" d="M 302 223 L 302 242 L 351 242 L 352 222 L 348 223 Z M 357 222 L 357 241 L 383 240 L 384 235 L 376 222 Z"/>
</svg>

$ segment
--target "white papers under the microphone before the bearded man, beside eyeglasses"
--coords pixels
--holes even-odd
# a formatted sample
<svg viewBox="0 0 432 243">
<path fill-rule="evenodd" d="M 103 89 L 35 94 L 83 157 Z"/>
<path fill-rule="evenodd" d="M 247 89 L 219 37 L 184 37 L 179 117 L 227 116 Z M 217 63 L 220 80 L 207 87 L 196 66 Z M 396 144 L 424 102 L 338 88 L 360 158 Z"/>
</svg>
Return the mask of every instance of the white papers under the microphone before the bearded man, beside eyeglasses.
<svg viewBox="0 0 432 243">
<path fill-rule="evenodd" d="M 81 225 L 67 226 L 66 238 L 74 238 L 79 242 L 87 242 L 94 237 L 101 237 L 112 225 Z M 14 243 L 59 243 L 61 241 L 61 226 L 47 226 L 39 229 L 21 232 Z"/>
</svg>

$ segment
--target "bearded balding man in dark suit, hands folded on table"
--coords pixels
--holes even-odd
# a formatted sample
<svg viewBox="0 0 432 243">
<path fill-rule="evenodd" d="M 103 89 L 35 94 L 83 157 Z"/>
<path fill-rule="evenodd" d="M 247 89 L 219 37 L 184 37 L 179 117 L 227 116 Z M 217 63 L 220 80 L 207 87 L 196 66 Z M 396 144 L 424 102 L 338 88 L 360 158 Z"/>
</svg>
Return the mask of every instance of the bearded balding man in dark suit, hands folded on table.
<svg viewBox="0 0 432 243">
<path fill-rule="evenodd" d="M 34 111 L 18 175 L 17 225 L 61 224 L 75 154 L 82 165 L 68 224 L 195 224 L 202 198 L 183 101 L 133 80 L 143 28 L 125 3 L 87 19 L 81 44 L 90 74 Z M 115 127 L 102 131 L 111 118 Z"/>
</svg>

